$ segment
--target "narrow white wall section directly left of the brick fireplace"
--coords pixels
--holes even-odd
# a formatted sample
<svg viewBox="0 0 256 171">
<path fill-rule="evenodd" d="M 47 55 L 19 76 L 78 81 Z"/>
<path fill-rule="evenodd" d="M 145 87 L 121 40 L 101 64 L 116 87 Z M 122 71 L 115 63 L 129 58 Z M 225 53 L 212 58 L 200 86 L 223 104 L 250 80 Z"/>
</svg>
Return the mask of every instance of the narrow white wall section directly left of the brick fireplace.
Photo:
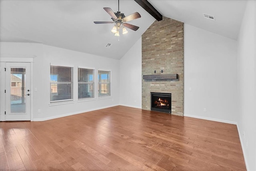
<svg viewBox="0 0 256 171">
<path fill-rule="evenodd" d="M 142 39 L 120 59 L 120 105 L 141 109 L 142 105 Z"/>
</svg>

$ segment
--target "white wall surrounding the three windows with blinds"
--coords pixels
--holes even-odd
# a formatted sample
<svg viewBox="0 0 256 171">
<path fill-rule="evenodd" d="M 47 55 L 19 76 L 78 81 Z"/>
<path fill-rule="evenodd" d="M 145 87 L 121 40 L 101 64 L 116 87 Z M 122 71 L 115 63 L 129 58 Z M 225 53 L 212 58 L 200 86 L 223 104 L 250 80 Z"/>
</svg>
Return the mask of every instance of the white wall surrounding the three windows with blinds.
<svg viewBox="0 0 256 171">
<path fill-rule="evenodd" d="M 34 58 L 34 121 L 53 119 L 56 117 L 101 109 L 119 104 L 119 60 L 101 56 L 46 46 L 35 43 L 8 43 L 1 42 L 1 54 L 29 54 Z M 74 103 L 49 106 L 50 103 L 50 63 L 74 67 Z M 93 101 L 77 102 L 77 67 L 84 66 L 98 69 L 111 70 L 111 95 L 112 98 L 96 99 Z M 96 79 L 97 83 L 97 73 Z M 97 85 L 97 84 L 96 84 Z M 38 113 L 38 109 L 41 113 Z"/>
</svg>

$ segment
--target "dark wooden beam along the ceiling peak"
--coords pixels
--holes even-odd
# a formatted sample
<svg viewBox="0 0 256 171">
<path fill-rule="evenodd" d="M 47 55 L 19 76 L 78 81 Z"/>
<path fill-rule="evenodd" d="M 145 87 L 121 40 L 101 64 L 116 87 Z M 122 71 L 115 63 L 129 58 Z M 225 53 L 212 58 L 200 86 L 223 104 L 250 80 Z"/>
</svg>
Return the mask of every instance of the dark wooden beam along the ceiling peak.
<svg viewBox="0 0 256 171">
<path fill-rule="evenodd" d="M 156 20 L 161 21 L 163 20 L 162 14 L 154 8 L 147 0 L 134 0 L 137 2 L 144 10 L 146 10 L 150 15 L 152 15 Z"/>
</svg>

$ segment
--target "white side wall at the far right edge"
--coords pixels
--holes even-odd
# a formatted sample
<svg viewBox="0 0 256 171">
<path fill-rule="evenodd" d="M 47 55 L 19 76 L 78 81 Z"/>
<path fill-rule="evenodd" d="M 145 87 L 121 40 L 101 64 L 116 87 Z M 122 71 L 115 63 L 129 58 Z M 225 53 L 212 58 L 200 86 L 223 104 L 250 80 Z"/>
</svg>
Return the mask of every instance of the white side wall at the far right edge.
<svg viewBox="0 0 256 171">
<path fill-rule="evenodd" d="M 238 37 L 238 131 L 247 170 L 256 170 L 256 2 L 248 1 Z M 244 135 L 243 135 L 244 134 Z"/>
</svg>

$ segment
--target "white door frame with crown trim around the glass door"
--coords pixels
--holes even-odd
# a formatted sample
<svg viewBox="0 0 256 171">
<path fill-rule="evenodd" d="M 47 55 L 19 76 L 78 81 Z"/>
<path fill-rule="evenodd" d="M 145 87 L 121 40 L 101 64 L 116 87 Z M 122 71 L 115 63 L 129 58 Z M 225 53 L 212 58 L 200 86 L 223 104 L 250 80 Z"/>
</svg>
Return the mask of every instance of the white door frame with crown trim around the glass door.
<svg viewBox="0 0 256 171">
<path fill-rule="evenodd" d="M 34 58 L 36 58 L 35 55 L 12 55 L 12 54 L 0 54 L 0 62 L 2 63 L 6 63 L 6 62 L 16 62 L 16 63 L 30 63 L 30 121 L 34 121 L 34 74 L 33 74 L 33 64 L 34 64 Z M 4 68 L 1 67 L 1 76 L 3 75 L 2 72 L 4 71 Z M 4 75 L 6 73 L 4 72 Z M 6 82 L 6 78 L 4 78 L 4 84 Z M 1 83 L 0 86 L 2 86 L 3 84 Z M 6 89 L 5 85 L 4 88 L 0 87 L 0 93 L 2 96 L 2 93 L 4 94 L 5 97 L 5 93 L 4 90 Z M 2 98 L 2 97 L 1 97 Z M 5 111 L 6 111 L 6 104 L 5 104 L 5 98 L 4 98 L 4 105 L 1 105 L 1 109 L 0 109 L 0 121 L 6 121 L 6 115 L 5 115 Z M 4 106 L 4 109 L 2 109 L 2 106 Z M 4 115 L 4 117 L 2 117 L 2 115 Z"/>
</svg>

